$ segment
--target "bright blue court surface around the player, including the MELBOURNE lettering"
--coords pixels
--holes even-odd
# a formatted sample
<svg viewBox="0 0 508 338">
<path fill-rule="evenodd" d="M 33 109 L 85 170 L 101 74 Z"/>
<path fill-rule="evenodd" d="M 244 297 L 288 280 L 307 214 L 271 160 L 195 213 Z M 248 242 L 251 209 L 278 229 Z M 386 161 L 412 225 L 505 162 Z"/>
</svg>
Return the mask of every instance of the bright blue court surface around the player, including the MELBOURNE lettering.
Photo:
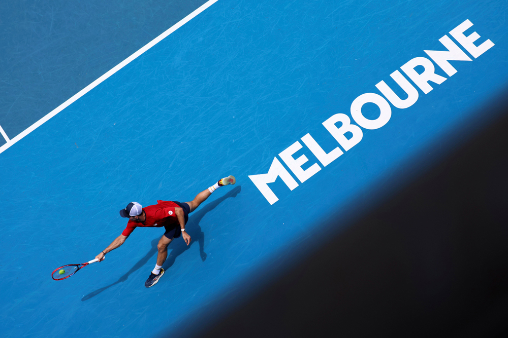
<svg viewBox="0 0 508 338">
<path fill-rule="evenodd" d="M 507 85 L 507 32 L 504 1 L 218 0 L 0 154 L 2 336 L 206 322 L 193 314 L 311 250 L 295 243 L 340 231 L 326 219 L 366 212 L 362 201 L 390 193 L 384 181 L 403 184 L 494 121 L 480 108 Z M 192 244 L 170 244 L 153 288 L 158 228 L 51 279 L 106 248 L 129 202 L 192 200 L 227 175 L 237 184 L 190 214 Z"/>
</svg>

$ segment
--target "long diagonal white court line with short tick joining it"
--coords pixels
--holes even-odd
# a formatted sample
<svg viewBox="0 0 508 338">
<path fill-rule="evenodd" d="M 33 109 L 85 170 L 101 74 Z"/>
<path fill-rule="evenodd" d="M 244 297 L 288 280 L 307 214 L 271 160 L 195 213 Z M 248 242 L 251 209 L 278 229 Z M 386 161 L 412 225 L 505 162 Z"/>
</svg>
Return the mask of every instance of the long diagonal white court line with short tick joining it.
<svg viewBox="0 0 508 338">
<path fill-rule="evenodd" d="M 2 127 L 0 127 L 0 133 L 2 133 L 2 135 L 4 136 L 4 138 L 6 139 L 7 143 L 2 145 L 0 147 L 0 154 L 2 154 L 4 151 L 6 151 L 6 149 L 8 149 L 11 145 L 13 145 L 14 143 L 16 143 L 17 141 L 19 141 L 20 139 L 22 139 L 23 137 L 25 137 L 26 135 L 28 135 L 29 133 L 33 132 L 36 128 L 38 128 L 39 126 L 41 126 L 44 122 L 48 121 L 49 119 L 51 119 L 53 116 L 55 116 L 56 114 L 58 114 L 60 111 L 62 111 L 63 109 L 67 108 L 69 105 L 71 105 L 71 103 L 73 103 L 74 101 L 76 101 L 77 99 L 79 99 L 81 96 L 85 95 L 86 93 L 88 93 L 90 90 L 92 90 L 93 88 L 97 87 L 99 84 L 101 84 L 103 81 L 105 81 L 107 78 L 109 78 L 110 76 L 112 76 L 114 73 L 116 73 L 118 70 L 122 69 L 125 65 L 129 64 L 132 60 L 136 59 L 138 56 L 140 56 L 141 54 L 143 54 L 144 52 L 146 52 L 147 50 L 149 50 L 150 48 L 152 48 L 153 46 L 155 46 L 157 43 L 161 42 L 165 37 L 167 37 L 169 34 L 171 34 L 172 32 L 174 32 L 175 30 L 177 30 L 178 28 L 180 28 L 181 26 L 183 26 L 184 24 L 186 24 L 187 22 L 189 22 L 191 19 L 193 19 L 194 17 L 196 17 L 198 14 L 200 14 L 201 12 L 203 12 L 204 10 L 206 10 L 208 7 L 212 6 L 213 4 L 215 4 L 218 0 L 209 0 L 207 1 L 206 3 L 204 3 L 203 5 L 201 5 L 201 7 L 199 7 L 197 10 L 195 10 L 194 12 L 190 13 L 189 15 L 187 15 L 185 18 L 181 19 L 180 21 L 178 21 L 178 23 L 176 23 L 174 26 L 172 26 L 171 28 L 169 28 L 168 30 L 166 30 L 164 33 L 162 33 L 161 35 L 155 37 L 155 39 L 153 39 L 152 41 L 150 41 L 148 44 L 146 44 L 145 46 L 143 46 L 141 49 L 139 49 L 137 52 L 135 52 L 133 55 L 129 56 L 128 58 L 126 58 L 125 60 L 123 60 L 122 62 L 120 62 L 119 64 L 117 64 L 115 67 L 113 67 L 112 69 L 110 69 L 107 73 L 105 73 L 102 77 L 100 77 L 99 79 L 97 79 L 96 81 L 93 81 L 91 84 L 89 84 L 88 86 L 86 86 L 85 88 L 81 89 L 77 94 L 75 94 L 73 97 L 71 97 L 70 99 L 68 99 L 67 101 L 63 102 L 62 104 L 60 104 L 58 107 L 56 107 L 55 109 L 53 109 L 48 115 L 46 115 L 45 117 L 43 117 L 42 119 L 40 119 L 39 121 L 37 121 L 36 123 L 34 123 L 33 125 L 31 125 L 30 127 L 26 128 L 25 130 L 23 130 L 20 134 L 18 134 L 17 136 L 15 136 L 13 139 L 9 140 L 9 137 L 7 137 L 7 134 L 4 132 L 4 129 L 2 129 Z"/>
</svg>

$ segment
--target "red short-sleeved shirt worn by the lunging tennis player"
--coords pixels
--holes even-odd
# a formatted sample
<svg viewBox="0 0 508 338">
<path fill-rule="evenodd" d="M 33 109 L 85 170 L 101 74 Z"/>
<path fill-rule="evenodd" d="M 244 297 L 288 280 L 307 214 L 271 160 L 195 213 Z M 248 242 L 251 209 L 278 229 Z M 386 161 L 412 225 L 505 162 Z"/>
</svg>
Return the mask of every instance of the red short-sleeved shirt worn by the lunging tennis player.
<svg viewBox="0 0 508 338">
<path fill-rule="evenodd" d="M 171 201 L 157 201 L 155 205 L 149 205 L 142 208 L 146 214 L 144 222 L 135 222 L 129 220 L 127 228 L 122 232 L 123 236 L 129 236 L 136 227 L 165 227 L 180 224 L 176 217 L 175 208 L 179 208 L 178 204 Z"/>
</svg>

